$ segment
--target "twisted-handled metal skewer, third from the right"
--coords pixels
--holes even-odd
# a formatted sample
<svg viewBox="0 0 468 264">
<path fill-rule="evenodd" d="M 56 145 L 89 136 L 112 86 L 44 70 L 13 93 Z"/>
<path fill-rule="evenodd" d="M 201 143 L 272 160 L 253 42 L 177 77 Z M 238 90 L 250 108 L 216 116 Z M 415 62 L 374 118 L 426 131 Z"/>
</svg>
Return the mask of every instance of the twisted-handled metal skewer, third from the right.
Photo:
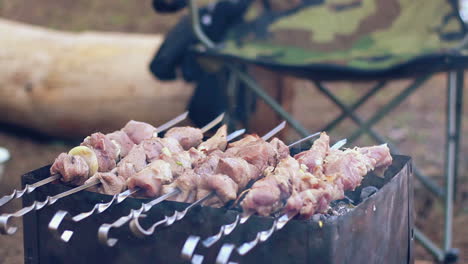
<svg viewBox="0 0 468 264">
<path fill-rule="evenodd" d="M 278 132 L 280 132 L 284 127 L 286 126 L 286 122 L 281 122 L 278 126 L 273 128 L 271 131 L 269 131 L 267 134 L 265 134 L 262 139 L 263 140 L 268 140 Z M 206 201 L 207 199 L 213 197 L 216 193 L 215 192 L 210 192 L 209 194 L 205 195 L 203 198 L 199 199 L 198 201 L 192 203 L 189 205 L 185 210 L 183 211 L 176 211 L 172 216 L 165 216 L 164 219 L 156 222 L 153 224 L 150 228 L 148 229 L 143 229 L 143 227 L 140 225 L 139 218 L 135 217 L 133 220 L 130 222 L 130 229 L 132 230 L 133 234 L 135 234 L 137 237 L 144 237 L 144 236 L 151 236 L 154 234 L 156 228 L 158 226 L 171 226 L 174 224 L 176 221 L 182 220 L 187 212 L 193 208 L 196 205 L 201 204 L 202 202 Z"/>
</svg>

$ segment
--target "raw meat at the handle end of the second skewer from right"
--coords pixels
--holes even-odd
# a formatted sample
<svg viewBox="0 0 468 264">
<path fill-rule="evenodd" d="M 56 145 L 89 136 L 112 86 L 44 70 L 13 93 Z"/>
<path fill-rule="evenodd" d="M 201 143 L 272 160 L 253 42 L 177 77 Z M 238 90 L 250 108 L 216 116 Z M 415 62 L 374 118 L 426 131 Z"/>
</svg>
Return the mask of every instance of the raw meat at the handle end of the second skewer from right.
<svg viewBox="0 0 468 264">
<path fill-rule="evenodd" d="M 287 157 L 276 168 L 268 167 L 264 174 L 265 177 L 254 183 L 241 202 L 244 212 L 267 216 L 280 209 L 305 172 L 297 160 Z"/>
</svg>

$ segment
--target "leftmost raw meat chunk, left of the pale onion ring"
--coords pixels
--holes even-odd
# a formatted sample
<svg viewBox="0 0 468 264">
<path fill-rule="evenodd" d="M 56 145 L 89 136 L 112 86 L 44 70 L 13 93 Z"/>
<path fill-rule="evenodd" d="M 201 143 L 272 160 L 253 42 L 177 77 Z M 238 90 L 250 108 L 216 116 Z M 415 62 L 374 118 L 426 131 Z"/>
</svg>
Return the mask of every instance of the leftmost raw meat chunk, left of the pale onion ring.
<svg viewBox="0 0 468 264">
<path fill-rule="evenodd" d="M 50 173 L 60 173 L 61 181 L 79 185 L 88 179 L 89 166 L 81 156 L 61 153 L 50 167 Z"/>
</svg>

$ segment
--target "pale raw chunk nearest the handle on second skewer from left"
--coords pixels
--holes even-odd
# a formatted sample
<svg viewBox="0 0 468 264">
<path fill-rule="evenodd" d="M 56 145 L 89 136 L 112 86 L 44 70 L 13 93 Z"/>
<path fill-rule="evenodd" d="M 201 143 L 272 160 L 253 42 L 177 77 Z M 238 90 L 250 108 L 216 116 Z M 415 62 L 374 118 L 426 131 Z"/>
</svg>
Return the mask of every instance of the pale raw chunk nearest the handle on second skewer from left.
<svg viewBox="0 0 468 264">
<path fill-rule="evenodd" d="M 89 178 L 86 183 L 99 180 L 101 184 L 92 187 L 92 191 L 114 195 L 121 193 L 127 188 L 125 179 L 121 176 L 117 176 L 114 171 L 112 172 L 98 172 Z"/>
</svg>

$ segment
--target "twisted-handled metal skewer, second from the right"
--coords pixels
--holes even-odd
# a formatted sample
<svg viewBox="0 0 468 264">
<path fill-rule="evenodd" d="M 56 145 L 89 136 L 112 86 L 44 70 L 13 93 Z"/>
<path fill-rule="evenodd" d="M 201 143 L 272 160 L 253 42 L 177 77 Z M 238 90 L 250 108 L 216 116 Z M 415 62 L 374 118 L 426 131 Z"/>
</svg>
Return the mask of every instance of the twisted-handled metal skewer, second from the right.
<svg viewBox="0 0 468 264">
<path fill-rule="evenodd" d="M 292 148 L 293 146 L 296 146 L 296 145 L 298 145 L 298 144 L 300 144 L 302 142 L 310 140 L 311 138 L 317 137 L 317 136 L 320 135 L 320 133 L 321 132 L 317 132 L 317 133 L 311 134 L 311 135 L 309 135 L 307 137 L 301 138 L 301 139 L 289 144 L 288 148 Z M 345 143 L 346 143 L 346 139 L 341 140 L 339 143 L 337 142 L 335 145 L 336 145 L 337 148 L 341 148 Z M 210 236 L 210 237 L 207 237 L 206 239 L 204 239 L 202 241 L 202 245 L 207 247 L 207 248 L 213 246 L 221 238 L 231 234 L 232 231 L 234 231 L 238 225 L 242 225 L 245 222 L 247 222 L 247 220 L 249 220 L 249 218 L 252 215 L 253 215 L 252 213 L 242 213 L 242 214 L 236 215 L 236 218 L 234 219 L 234 221 L 232 223 L 225 224 L 225 225 L 221 226 L 221 228 L 219 229 L 219 232 L 212 235 L 212 236 Z M 184 246 L 182 248 L 182 252 L 181 252 L 182 258 L 191 259 L 192 255 L 194 253 L 194 250 L 196 249 L 197 244 L 198 244 L 199 241 L 200 241 L 199 236 L 193 236 L 193 235 L 189 236 L 187 238 L 187 240 L 185 241 L 185 244 L 184 244 Z"/>
</svg>

